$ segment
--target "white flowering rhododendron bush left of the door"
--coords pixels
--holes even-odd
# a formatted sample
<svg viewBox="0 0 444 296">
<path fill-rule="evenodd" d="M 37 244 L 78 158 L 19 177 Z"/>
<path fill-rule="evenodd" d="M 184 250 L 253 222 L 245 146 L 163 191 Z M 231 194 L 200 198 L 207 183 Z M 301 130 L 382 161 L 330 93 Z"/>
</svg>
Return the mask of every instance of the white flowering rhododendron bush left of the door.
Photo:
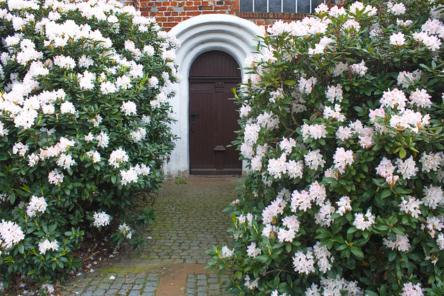
<svg viewBox="0 0 444 296">
<path fill-rule="evenodd" d="M 116 1 L 0 1 L 0 23 L 0 281 L 55 281 L 85 233 L 137 244 L 155 217 L 134 209 L 174 148 L 178 42 Z"/>
</svg>

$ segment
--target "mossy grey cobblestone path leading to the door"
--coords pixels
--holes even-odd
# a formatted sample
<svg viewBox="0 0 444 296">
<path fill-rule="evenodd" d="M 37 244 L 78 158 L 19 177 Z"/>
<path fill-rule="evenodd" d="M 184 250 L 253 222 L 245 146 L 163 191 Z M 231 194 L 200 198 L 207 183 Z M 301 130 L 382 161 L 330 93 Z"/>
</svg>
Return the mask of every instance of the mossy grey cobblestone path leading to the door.
<svg viewBox="0 0 444 296">
<path fill-rule="evenodd" d="M 186 184 L 166 182 L 155 201 L 158 217 L 146 245 L 87 275 L 72 279 L 64 295 L 234 295 L 204 269 L 205 250 L 230 244 L 226 205 L 235 199 L 235 177 L 189 177 Z"/>
</svg>

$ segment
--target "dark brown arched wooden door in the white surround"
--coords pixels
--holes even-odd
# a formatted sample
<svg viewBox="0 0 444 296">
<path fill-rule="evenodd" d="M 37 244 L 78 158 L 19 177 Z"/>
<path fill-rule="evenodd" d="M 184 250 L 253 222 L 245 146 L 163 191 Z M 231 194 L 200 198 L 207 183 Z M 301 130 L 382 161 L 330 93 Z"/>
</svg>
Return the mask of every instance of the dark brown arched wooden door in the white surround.
<svg viewBox="0 0 444 296">
<path fill-rule="evenodd" d="M 239 175 L 234 147 L 239 130 L 237 106 L 230 98 L 241 82 L 239 65 L 228 53 L 199 55 L 189 71 L 189 169 L 192 175 Z"/>
</svg>

